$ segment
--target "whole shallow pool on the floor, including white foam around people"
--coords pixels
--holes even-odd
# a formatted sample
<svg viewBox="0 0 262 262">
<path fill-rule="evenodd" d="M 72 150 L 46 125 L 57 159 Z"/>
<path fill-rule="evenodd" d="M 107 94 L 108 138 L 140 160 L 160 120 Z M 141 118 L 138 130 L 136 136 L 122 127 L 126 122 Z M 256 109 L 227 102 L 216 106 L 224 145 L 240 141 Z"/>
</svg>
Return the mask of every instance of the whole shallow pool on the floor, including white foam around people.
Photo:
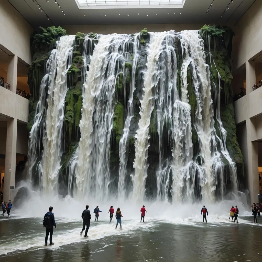
<svg viewBox="0 0 262 262">
<path fill-rule="evenodd" d="M 70 210 L 68 210 L 70 213 Z M 12 214 L 13 213 L 13 214 Z M 18 212 L 19 213 L 19 212 Z M 55 213 L 55 212 L 54 212 Z M 146 214 L 147 215 L 147 214 Z M 208 216 L 199 219 L 145 222 L 123 217 L 123 229 L 109 224 L 107 214 L 91 221 L 89 238 L 80 236 L 81 220 L 56 218 L 52 247 L 44 246 L 42 218 L 22 218 L 11 212 L 0 218 L 0 261 L 259 261 L 262 254 L 261 227 L 253 217 L 239 223 Z M 260 224 L 261 223 L 261 224 Z"/>
</svg>

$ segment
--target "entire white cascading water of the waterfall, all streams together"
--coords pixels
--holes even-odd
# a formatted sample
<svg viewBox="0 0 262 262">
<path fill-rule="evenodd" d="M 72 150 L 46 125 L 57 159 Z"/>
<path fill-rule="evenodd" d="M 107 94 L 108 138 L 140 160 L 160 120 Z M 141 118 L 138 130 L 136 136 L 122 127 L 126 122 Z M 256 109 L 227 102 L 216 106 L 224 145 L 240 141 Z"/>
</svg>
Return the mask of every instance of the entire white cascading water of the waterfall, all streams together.
<svg viewBox="0 0 262 262">
<path fill-rule="evenodd" d="M 156 190 L 158 200 L 214 200 L 217 190 L 222 197 L 226 192 L 225 165 L 232 191 L 237 192 L 236 165 L 220 119 L 220 76 L 219 83 L 211 83 L 199 31 L 149 33 L 146 39 L 139 33 L 93 37 L 83 36 L 81 136 L 70 155 L 68 192 L 73 189 L 81 198 L 103 200 L 117 194 L 124 199 L 130 192 L 128 173 L 134 168 L 133 200 L 144 198 L 148 181 L 154 183 L 150 190 Z M 45 192 L 57 192 L 62 166 L 64 100 L 74 38 L 61 37 L 50 55 L 30 132 L 33 177 L 43 130 L 39 169 Z M 152 147 L 152 158 L 154 125 L 157 146 Z M 133 167 L 127 167 L 132 162 Z M 149 170 L 149 165 L 154 168 Z"/>
</svg>

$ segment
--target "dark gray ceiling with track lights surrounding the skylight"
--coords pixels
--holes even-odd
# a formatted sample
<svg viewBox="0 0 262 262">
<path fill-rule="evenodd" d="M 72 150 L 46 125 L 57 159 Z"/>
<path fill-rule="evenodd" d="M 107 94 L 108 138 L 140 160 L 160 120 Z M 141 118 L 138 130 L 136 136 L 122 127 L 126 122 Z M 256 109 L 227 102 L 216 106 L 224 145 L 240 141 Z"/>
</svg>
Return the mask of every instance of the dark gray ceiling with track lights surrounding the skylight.
<svg viewBox="0 0 262 262">
<path fill-rule="evenodd" d="M 2 0 L 3 1 L 3 0 Z M 8 0 L 34 28 L 50 25 L 90 24 L 227 24 L 234 26 L 248 8 L 261 0 L 186 0 L 183 8 L 97 8 L 79 9 L 75 0 Z M 44 12 L 41 12 L 39 3 Z M 47 20 L 45 13 L 50 17 Z M 139 13 L 139 15 L 138 15 Z M 120 14 L 120 15 L 119 15 Z M 222 15 L 222 17 L 221 17 Z"/>
</svg>

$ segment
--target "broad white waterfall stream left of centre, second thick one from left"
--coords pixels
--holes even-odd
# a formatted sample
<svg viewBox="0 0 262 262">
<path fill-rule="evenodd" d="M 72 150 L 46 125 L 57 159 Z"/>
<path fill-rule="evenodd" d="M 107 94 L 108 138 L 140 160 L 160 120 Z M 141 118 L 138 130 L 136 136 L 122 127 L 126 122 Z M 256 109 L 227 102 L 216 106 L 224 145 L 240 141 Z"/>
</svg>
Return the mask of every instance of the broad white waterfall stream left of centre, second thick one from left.
<svg viewBox="0 0 262 262">
<path fill-rule="evenodd" d="M 106 197 L 110 174 L 110 138 L 113 128 L 114 91 L 118 74 L 124 72 L 127 35 L 101 35 L 90 57 L 84 84 L 81 138 L 75 171 L 80 195 Z"/>
</svg>

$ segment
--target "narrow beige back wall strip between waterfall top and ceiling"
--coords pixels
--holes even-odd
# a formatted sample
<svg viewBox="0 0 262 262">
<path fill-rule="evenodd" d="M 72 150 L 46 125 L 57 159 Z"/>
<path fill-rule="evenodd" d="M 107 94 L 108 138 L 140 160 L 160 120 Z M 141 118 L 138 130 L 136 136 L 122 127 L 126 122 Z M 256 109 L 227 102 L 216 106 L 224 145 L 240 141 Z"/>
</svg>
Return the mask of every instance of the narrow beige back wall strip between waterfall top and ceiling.
<svg viewBox="0 0 262 262">
<path fill-rule="evenodd" d="M 203 24 L 137 24 L 137 25 L 64 25 L 63 28 L 69 35 L 75 35 L 77 32 L 84 34 L 93 32 L 97 34 L 133 34 L 147 28 L 150 32 L 162 32 L 175 30 L 196 30 Z"/>
</svg>

